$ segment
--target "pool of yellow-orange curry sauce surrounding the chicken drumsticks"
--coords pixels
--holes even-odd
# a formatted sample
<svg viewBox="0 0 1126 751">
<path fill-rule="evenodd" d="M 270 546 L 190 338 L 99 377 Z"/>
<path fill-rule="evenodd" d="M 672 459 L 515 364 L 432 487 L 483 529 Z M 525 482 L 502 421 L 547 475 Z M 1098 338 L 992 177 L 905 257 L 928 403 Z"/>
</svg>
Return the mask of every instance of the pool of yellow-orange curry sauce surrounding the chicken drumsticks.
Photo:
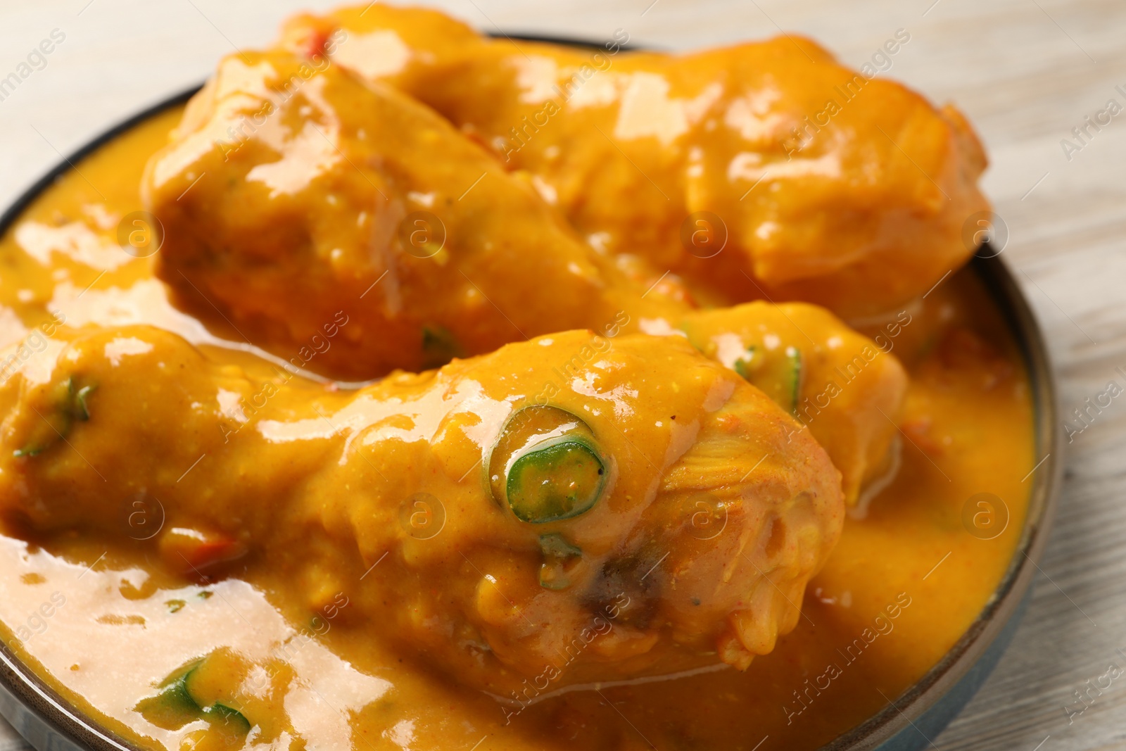
<svg viewBox="0 0 1126 751">
<path fill-rule="evenodd" d="M 60 323 L 152 323 L 215 360 L 266 373 L 260 352 L 215 338 L 171 307 L 151 259 L 118 245 L 118 224 L 141 206 L 145 161 L 179 117 L 173 108 L 80 162 L 0 241 L 5 345 L 38 328 L 42 338 L 34 340 L 54 346 Z M 568 687 L 575 690 L 503 704 L 372 638 L 370 624 L 349 617 L 349 588 L 357 584 L 332 571 L 323 582 L 302 582 L 324 589 L 311 617 L 305 592 L 287 578 L 309 555 L 300 545 L 275 558 L 289 555 L 293 566 L 185 584 L 135 547 L 78 533 L 35 545 L 18 529 L 0 538 L 5 642 L 77 706 L 154 748 L 242 743 L 236 732 L 207 732 L 214 718 L 168 730 L 137 712 L 159 682 L 209 653 L 268 665 L 271 685 L 287 687 L 265 709 L 285 715 L 294 730 L 274 748 L 753 749 L 763 739 L 760 749 L 816 748 L 914 682 L 981 611 L 1019 538 L 1022 479 L 1035 461 L 1024 366 L 968 272 L 886 320 L 854 324 L 888 342 L 912 376 L 897 466 L 890 484 L 863 498 L 846 520 L 811 581 L 797 627 L 747 672 Z M 29 351 L 26 366 L 37 355 Z M 177 439 L 169 426 L 168 441 Z M 1003 501 L 985 519 L 986 531 L 971 501 L 982 492 Z M 136 513 L 122 524 L 141 538 L 145 525 L 159 524 L 159 510 Z M 993 537 L 990 522 L 1001 517 L 1004 529 Z M 198 690 L 222 690 L 223 661 L 216 662 Z"/>
</svg>

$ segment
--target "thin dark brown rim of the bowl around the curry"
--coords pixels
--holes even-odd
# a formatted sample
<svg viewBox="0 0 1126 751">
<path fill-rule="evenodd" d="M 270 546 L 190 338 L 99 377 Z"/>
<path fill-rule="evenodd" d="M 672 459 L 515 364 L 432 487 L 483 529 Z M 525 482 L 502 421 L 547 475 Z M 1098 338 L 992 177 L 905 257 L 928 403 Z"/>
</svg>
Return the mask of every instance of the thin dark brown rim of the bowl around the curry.
<svg viewBox="0 0 1126 751">
<path fill-rule="evenodd" d="M 497 36 L 497 35 L 490 35 Z M 525 42 L 551 42 L 581 47 L 599 47 L 589 39 L 548 37 L 533 34 L 500 35 Z M 623 45 L 623 48 L 636 48 Z M 64 157 L 61 162 L 25 189 L 0 214 L 0 235 L 16 223 L 27 207 L 74 164 L 101 149 L 141 123 L 185 104 L 203 84 L 197 84 L 142 108 L 133 116 L 110 126 Z M 1028 513 L 1016 553 L 993 596 L 981 613 L 947 653 L 922 678 L 900 694 L 885 707 L 864 722 L 841 733 L 819 751 L 869 751 L 913 726 L 914 721 L 935 706 L 974 667 L 990 649 L 1025 599 L 1031 585 L 1038 561 L 1047 544 L 1052 518 L 1060 495 L 1063 474 L 1063 442 L 1058 422 L 1058 390 L 1043 329 L 1033 313 L 1016 277 L 1000 253 L 975 254 L 966 265 L 984 284 L 991 299 L 998 305 L 1004 322 L 1018 345 L 1028 372 L 1033 412 L 1035 418 L 1034 445 L 1036 456 L 1044 455 L 1029 473 L 1033 486 L 1029 492 Z M 951 269 L 957 270 L 957 269 Z M 1046 455 L 1045 455 L 1046 452 Z M 1027 480 L 1027 477 L 1026 477 Z M 34 670 L 0 643 L 0 690 L 14 695 L 19 703 L 48 727 L 81 746 L 102 751 L 144 751 L 141 746 L 100 727 L 84 716 L 68 699 L 43 681 Z M 917 728 L 918 730 L 918 728 Z M 922 731 L 919 731 L 920 733 Z M 930 741 L 931 739 L 927 739 Z"/>
</svg>

